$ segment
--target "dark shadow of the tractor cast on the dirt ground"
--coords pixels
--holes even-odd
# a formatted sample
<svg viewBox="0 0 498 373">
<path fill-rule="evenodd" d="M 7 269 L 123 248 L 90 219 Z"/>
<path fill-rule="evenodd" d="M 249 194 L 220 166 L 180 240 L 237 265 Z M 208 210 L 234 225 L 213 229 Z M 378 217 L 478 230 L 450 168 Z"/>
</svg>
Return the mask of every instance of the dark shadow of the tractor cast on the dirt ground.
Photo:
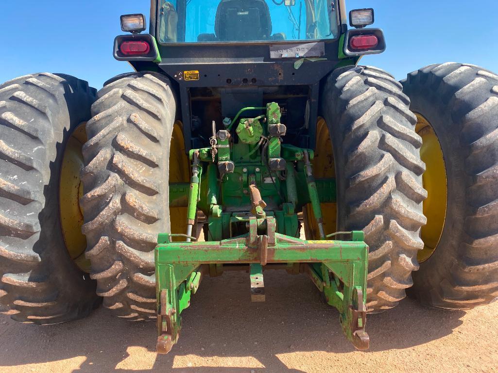
<svg viewBox="0 0 498 373">
<path fill-rule="evenodd" d="M 182 314 L 179 343 L 165 356 L 154 354 L 154 322 L 126 322 L 102 308 L 87 319 L 49 327 L 18 324 L 1 316 L 0 367 L 80 357 L 82 363 L 73 372 L 301 372 L 288 369 L 277 355 L 355 351 L 342 334 L 337 311 L 320 301 L 305 276 L 266 271 L 264 282 L 266 302 L 251 303 L 245 272 L 203 280 L 191 307 Z M 461 325 L 463 315 L 463 311 L 422 308 L 405 299 L 390 311 L 369 315 L 371 349 L 357 354 L 437 340 Z"/>
</svg>

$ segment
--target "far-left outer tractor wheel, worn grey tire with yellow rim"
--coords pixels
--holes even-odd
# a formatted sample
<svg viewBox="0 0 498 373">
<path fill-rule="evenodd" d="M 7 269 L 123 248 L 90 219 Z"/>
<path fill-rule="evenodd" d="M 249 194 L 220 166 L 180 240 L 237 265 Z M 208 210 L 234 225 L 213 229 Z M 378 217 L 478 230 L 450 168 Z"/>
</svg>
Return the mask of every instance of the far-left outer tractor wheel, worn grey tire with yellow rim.
<svg viewBox="0 0 498 373">
<path fill-rule="evenodd" d="M 99 304 L 78 225 L 84 122 L 95 94 L 61 74 L 0 85 L 0 309 L 14 320 L 56 324 Z"/>
</svg>

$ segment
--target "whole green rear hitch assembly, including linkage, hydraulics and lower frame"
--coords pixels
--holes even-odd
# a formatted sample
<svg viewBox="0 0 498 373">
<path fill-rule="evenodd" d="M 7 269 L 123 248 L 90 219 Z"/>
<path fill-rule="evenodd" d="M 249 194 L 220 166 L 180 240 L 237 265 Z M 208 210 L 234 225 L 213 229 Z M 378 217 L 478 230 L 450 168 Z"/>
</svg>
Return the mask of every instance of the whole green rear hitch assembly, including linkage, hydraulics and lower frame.
<svg viewBox="0 0 498 373">
<path fill-rule="evenodd" d="M 241 113 L 254 109 L 265 109 L 265 115 L 241 118 L 231 134 Z M 189 152 L 191 183 L 170 186 L 171 205 L 187 201 L 189 228 L 185 242 L 171 242 L 181 235 L 158 237 L 158 352 L 168 352 L 177 342 L 180 314 L 190 305 L 202 277 L 219 276 L 228 265 L 249 266 L 253 301 L 264 300 L 267 265 L 307 273 L 339 310 L 345 336 L 359 349 L 368 347 L 368 246 L 363 232 L 338 232 L 346 239 L 326 239 L 320 203 L 336 200 L 335 179 L 314 179 L 313 151 L 282 143 L 285 126 L 280 121 L 275 102 L 240 110 L 234 120 L 224 120 L 227 130 L 213 135 L 210 148 Z M 299 238 L 298 213 L 308 203 L 322 228 L 322 240 Z M 207 242 L 190 242 L 198 209 L 207 215 Z"/>
</svg>

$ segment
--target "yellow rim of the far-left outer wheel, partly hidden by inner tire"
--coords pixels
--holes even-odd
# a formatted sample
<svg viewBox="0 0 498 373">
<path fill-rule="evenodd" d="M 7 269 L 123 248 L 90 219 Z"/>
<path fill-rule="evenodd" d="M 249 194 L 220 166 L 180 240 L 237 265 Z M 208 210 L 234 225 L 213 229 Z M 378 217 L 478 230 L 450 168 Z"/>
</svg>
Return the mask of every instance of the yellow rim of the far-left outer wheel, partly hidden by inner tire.
<svg viewBox="0 0 498 373">
<path fill-rule="evenodd" d="M 81 148 L 87 141 L 85 125 L 82 123 L 76 127 L 64 149 L 59 180 L 59 213 L 69 256 L 80 270 L 90 273 L 90 261 L 85 258 L 87 240 L 81 233 L 83 213 L 80 208 L 83 195 L 80 171 L 84 167 Z"/>
</svg>

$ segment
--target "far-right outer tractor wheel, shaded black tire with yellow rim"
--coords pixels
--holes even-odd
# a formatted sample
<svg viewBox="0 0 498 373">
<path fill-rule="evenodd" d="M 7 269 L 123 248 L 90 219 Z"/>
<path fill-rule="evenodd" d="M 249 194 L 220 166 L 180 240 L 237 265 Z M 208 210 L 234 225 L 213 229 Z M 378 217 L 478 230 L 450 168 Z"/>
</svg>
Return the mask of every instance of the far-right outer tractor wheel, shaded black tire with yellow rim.
<svg viewBox="0 0 498 373">
<path fill-rule="evenodd" d="M 498 296 L 498 76 L 474 65 L 431 65 L 403 92 L 427 164 L 427 225 L 410 294 L 469 309 Z"/>
</svg>

